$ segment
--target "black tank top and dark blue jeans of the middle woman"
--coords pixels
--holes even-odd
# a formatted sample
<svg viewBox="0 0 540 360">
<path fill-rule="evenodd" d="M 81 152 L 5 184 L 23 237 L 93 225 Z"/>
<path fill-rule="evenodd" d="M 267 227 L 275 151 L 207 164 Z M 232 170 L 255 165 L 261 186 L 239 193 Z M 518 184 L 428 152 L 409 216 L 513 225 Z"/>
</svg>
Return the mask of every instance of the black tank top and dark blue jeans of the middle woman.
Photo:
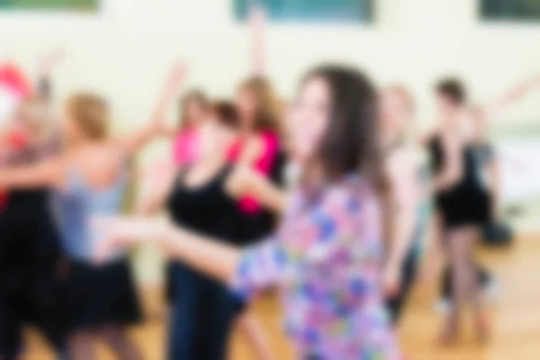
<svg viewBox="0 0 540 360">
<path fill-rule="evenodd" d="M 235 238 L 237 203 L 225 193 L 230 167 L 222 166 L 204 184 L 186 184 L 189 170 L 178 176 L 167 209 L 175 223 L 207 236 Z M 170 359 L 223 359 L 239 302 L 211 277 L 180 262 L 167 266 L 172 304 Z"/>
</svg>

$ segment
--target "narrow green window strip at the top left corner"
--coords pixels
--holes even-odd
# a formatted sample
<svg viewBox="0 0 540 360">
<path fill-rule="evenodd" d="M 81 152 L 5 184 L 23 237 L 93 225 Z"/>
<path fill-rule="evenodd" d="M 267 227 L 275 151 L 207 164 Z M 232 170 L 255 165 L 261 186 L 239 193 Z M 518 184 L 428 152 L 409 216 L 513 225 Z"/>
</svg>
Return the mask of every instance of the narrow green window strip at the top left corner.
<svg viewBox="0 0 540 360">
<path fill-rule="evenodd" d="M 69 11 L 92 13 L 100 0 L 0 0 L 0 11 Z"/>
</svg>

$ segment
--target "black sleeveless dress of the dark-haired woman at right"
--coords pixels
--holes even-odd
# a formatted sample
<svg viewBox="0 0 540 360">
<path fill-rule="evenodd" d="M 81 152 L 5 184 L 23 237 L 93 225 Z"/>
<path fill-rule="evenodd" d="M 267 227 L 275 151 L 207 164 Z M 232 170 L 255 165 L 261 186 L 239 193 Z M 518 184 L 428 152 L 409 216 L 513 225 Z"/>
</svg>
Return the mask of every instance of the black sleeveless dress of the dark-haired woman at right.
<svg viewBox="0 0 540 360">
<path fill-rule="evenodd" d="M 445 164 L 445 148 L 439 136 L 429 142 L 431 169 L 439 174 Z M 490 202 L 479 176 L 479 164 L 473 145 L 462 151 L 463 175 L 454 185 L 435 194 L 437 211 L 443 216 L 446 228 L 464 225 L 482 225 L 489 221 Z"/>
</svg>

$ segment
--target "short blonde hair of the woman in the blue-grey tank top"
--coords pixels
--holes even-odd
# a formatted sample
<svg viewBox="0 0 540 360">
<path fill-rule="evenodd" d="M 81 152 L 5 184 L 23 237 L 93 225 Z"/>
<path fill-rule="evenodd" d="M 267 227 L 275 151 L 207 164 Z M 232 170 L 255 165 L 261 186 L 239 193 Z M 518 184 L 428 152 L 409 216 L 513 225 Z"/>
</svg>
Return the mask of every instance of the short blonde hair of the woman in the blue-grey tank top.
<svg viewBox="0 0 540 360">
<path fill-rule="evenodd" d="M 90 139 L 106 139 L 109 135 L 109 104 L 94 94 L 74 94 L 67 99 L 67 111 Z"/>
</svg>

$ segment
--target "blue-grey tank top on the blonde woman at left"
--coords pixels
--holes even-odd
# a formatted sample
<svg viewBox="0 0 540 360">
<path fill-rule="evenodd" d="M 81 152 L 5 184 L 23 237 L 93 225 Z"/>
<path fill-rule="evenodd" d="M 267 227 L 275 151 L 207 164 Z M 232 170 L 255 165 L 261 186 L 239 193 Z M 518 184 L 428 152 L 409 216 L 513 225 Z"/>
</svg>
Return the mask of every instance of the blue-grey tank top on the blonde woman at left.
<svg viewBox="0 0 540 360">
<path fill-rule="evenodd" d="M 116 215 L 121 211 L 127 185 L 125 167 L 107 189 L 94 190 L 85 184 L 76 167 L 68 174 L 67 189 L 55 194 L 62 244 L 67 256 L 79 261 L 91 261 L 96 242 L 103 234 L 93 229 L 90 221 L 96 216 Z M 121 257 L 115 254 L 111 260 Z"/>
</svg>

